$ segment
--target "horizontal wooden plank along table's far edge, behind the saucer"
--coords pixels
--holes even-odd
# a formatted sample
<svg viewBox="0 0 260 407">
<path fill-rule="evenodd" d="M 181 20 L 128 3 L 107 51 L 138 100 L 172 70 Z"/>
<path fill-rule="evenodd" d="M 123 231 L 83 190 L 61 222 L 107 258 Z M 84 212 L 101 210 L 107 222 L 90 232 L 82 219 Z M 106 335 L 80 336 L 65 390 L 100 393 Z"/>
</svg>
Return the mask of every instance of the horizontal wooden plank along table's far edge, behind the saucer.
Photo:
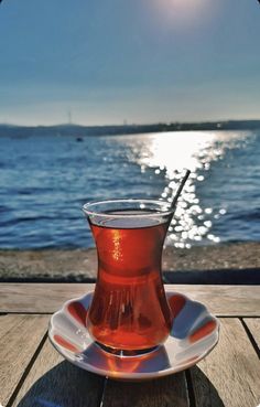
<svg viewBox="0 0 260 407">
<path fill-rule="evenodd" d="M 223 317 L 259 317 L 260 286 L 165 286 Z M 88 283 L 0 283 L 0 312 L 53 313 L 94 289 Z"/>
</svg>

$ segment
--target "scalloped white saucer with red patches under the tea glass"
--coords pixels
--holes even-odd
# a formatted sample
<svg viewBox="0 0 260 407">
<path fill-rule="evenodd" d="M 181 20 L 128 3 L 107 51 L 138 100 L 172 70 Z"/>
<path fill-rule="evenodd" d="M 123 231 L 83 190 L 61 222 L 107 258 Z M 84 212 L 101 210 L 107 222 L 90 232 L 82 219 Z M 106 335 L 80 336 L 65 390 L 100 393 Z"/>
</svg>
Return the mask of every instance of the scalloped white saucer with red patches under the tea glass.
<svg viewBox="0 0 260 407">
<path fill-rule="evenodd" d="M 219 322 L 199 302 L 166 291 L 174 319 L 164 345 L 141 356 L 118 356 L 101 350 L 90 338 L 86 315 L 93 292 L 73 299 L 52 315 L 48 338 L 69 362 L 86 371 L 121 379 L 148 379 L 195 365 L 217 344 Z"/>
</svg>

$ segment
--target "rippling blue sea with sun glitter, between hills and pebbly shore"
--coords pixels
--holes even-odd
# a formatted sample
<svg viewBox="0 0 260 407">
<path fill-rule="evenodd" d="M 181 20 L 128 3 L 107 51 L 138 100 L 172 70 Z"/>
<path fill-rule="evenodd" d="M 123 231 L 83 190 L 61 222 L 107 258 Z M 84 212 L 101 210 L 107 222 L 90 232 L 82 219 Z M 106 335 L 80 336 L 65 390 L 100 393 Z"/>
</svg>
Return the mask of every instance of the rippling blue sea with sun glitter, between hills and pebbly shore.
<svg viewBox="0 0 260 407">
<path fill-rule="evenodd" d="M 94 247 L 93 200 L 171 201 L 192 175 L 165 244 L 260 240 L 260 131 L 1 137 L 0 248 Z"/>
</svg>

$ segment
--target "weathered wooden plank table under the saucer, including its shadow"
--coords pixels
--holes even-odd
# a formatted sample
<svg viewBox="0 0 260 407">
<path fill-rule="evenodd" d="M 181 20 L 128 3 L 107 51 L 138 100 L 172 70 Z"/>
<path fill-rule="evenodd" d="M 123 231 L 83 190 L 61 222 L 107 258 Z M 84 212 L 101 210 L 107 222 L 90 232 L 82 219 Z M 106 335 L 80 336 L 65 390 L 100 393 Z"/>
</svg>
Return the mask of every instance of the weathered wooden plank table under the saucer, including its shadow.
<svg viewBox="0 0 260 407">
<path fill-rule="evenodd" d="M 259 406 L 260 286 L 175 288 L 219 317 L 219 343 L 191 369 L 133 383 L 75 367 L 47 339 L 50 314 L 93 285 L 1 283 L 0 406 Z"/>
</svg>

